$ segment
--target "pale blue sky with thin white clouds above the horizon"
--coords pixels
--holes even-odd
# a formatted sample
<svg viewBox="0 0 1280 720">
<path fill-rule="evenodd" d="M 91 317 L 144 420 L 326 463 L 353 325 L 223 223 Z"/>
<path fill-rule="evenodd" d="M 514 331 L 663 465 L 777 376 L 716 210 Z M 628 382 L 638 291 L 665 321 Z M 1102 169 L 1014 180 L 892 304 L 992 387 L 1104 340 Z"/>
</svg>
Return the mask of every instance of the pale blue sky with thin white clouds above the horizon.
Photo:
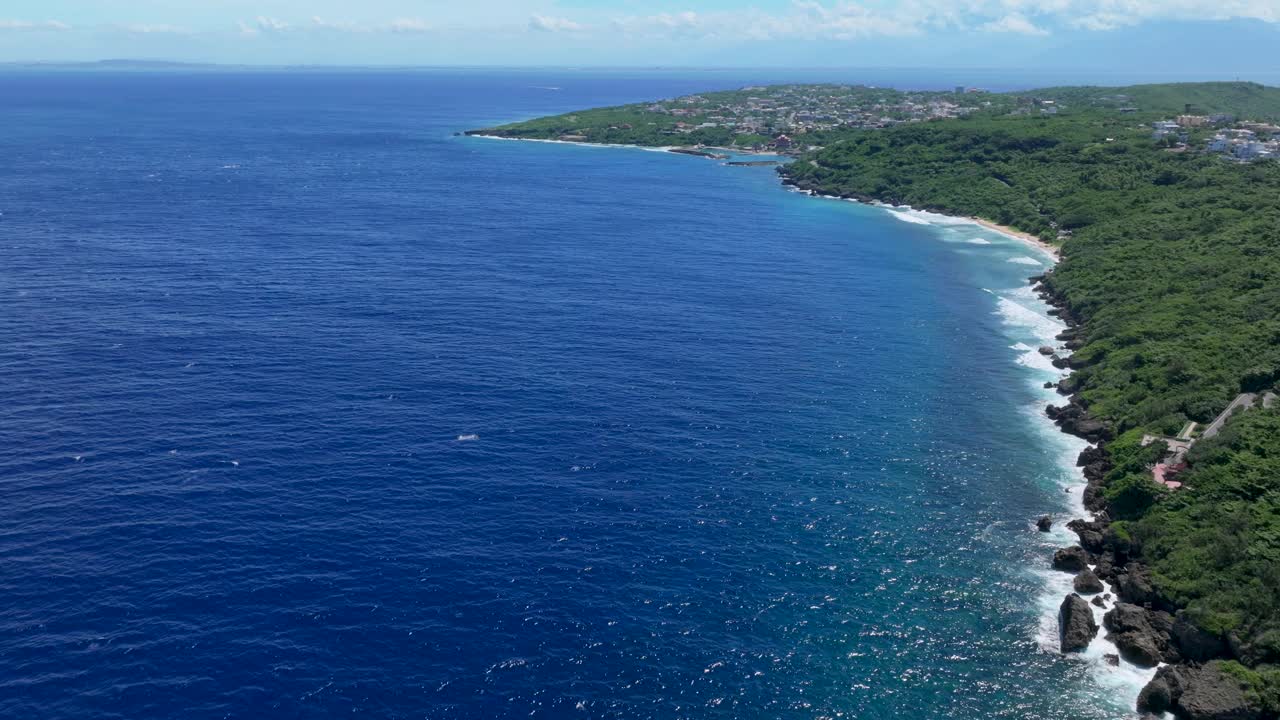
<svg viewBox="0 0 1280 720">
<path fill-rule="evenodd" d="M 0 61 L 1280 70 L 1280 0 L 4 0 Z"/>
</svg>

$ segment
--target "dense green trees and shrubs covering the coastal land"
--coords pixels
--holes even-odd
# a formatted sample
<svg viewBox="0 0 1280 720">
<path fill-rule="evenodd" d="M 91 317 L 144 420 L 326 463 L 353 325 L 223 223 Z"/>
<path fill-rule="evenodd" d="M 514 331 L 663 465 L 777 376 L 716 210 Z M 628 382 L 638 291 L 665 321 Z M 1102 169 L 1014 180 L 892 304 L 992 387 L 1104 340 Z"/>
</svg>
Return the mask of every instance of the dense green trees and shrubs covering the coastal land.
<svg viewBox="0 0 1280 720">
<path fill-rule="evenodd" d="M 690 106 L 707 113 L 678 122 L 760 96 L 758 88 L 742 92 L 732 102 L 698 96 Z M 815 92 L 774 95 L 794 104 Z M 1238 392 L 1280 379 L 1280 161 L 1238 164 L 1198 151 L 1208 129 L 1189 129 L 1189 147 L 1157 142 L 1149 123 L 1188 105 L 1274 120 L 1280 88 L 1187 83 L 969 95 L 855 88 L 845 105 L 859 119 L 794 131 L 797 143 L 822 149 L 780 172 L 823 193 L 984 218 L 1062 243 L 1064 260 L 1046 284 L 1079 320 L 1083 346 L 1073 363 L 1080 369 L 1071 382 L 1089 414 L 1117 436 L 1103 486 L 1116 520 L 1108 533 L 1151 568 L 1164 598 L 1230 638 L 1243 665 L 1225 669 L 1260 706 L 1280 710 L 1280 404 L 1245 411 L 1197 443 L 1176 492 L 1149 475 L 1164 445 L 1140 446 L 1144 432 L 1207 423 Z M 882 100 L 970 108 L 948 110 L 947 119 L 928 110 L 883 122 Z M 663 111 L 634 105 L 497 131 L 673 145 L 677 120 L 666 113 L 678 102 L 671 102 Z M 760 128 L 748 143 L 776 129 L 776 122 Z M 681 132 L 680 143 L 741 137 L 721 131 Z"/>
</svg>

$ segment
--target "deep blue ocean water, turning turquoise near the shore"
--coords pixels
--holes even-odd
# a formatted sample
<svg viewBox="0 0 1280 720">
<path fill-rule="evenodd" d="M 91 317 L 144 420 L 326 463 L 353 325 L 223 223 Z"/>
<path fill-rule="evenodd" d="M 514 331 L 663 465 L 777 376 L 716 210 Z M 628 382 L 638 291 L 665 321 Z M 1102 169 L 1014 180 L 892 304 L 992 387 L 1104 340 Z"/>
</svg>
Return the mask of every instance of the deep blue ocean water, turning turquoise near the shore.
<svg viewBox="0 0 1280 720">
<path fill-rule="evenodd" d="M 754 81 L 0 76 L 0 716 L 1119 715 L 1042 258 L 454 136 Z"/>
</svg>

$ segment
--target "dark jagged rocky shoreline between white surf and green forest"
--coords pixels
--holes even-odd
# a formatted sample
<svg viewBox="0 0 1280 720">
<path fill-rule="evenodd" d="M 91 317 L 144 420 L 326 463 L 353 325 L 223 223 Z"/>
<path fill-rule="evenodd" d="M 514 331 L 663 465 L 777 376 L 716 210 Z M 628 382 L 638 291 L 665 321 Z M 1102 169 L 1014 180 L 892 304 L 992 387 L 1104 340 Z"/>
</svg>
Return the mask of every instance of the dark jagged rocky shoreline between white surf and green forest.
<svg viewBox="0 0 1280 720">
<path fill-rule="evenodd" d="M 867 204 L 886 202 L 886 199 L 859 193 L 832 195 L 827 188 L 796 179 L 785 172 L 782 183 L 810 195 Z M 920 209 L 946 214 L 943 208 Z M 1079 350 L 1085 345 L 1082 318 L 1073 313 L 1066 299 L 1059 296 L 1047 282 L 1051 273 L 1052 270 L 1036 275 L 1029 282 L 1051 307 L 1050 314 L 1068 327 L 1056 340 L 1068 351 Z M 1078 370 L 1083 366 L 1070 352 L 1059 354 L 1053 347 L 1042 347 L 1041 352 L 1051 357 L 1055 368 Z M 1060 395 L 1066 396 L 1068 404 L 1048 405 L 1046 415 L 1064 433 L 1091 443 L 1080 452 L 1076 466 L 1083 470 L 1085 479 L 1084 507 L 1093 519 L 1068 523 L 1068 529 L 1075 533 L 1079 544 L 1057 550 L 1052 560 L 1056 570 L 1074 575 L 1075 592 L 1069 593 L 1059 607 L 1061 652 L 1080 652 L 1105 632 L 1119 651 L 1119 655 L 1106 656 L 1110 664 L 1119 665 L 1124 659 L 1139 667 L 1158 667 L 1155 678 L 1138 696 L 1135 711 L 1143 717 L 1170 712 L 1183 720 L 1265 720 L 1263 712 L 1251 705 L 1240 683 L 1213 664 L 1215 660 L 1238 656 L 1230 639 L 1198 628 L 1183 609 L 1162 598 L 1151 582 L 1138 548 L 1128 534 L 1112 528 L 1103 496 L 1106 475 L 1112 468 L 1111 455 L 1107 452 L 1107 443 L 1114 439 L 1111 428 L 1089 414 L 1088 401 L 1079 393 L 1075 374 L 1048 387 L 1056 387 Z M 1048 515 L 1036 521 L 1041 532 L 1050 532 L 1052 524 Z M 1111 605 L 1103 615 L 1102 626 L 1094 620 L 1091 605 Z"/>
</svg>

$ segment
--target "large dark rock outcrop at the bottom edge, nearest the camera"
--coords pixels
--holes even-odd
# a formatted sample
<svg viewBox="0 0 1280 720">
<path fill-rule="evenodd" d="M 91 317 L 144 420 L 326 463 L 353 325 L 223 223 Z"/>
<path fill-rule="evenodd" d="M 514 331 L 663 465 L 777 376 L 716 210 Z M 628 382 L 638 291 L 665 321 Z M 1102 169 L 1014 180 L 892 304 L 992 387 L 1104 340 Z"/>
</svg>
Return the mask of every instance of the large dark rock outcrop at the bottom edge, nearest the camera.
<svg viewBox="0 0 1280 720">
<path fill-rule="evenodd" d="M 1183 720 L 1262 720 L 1239 680 L 1217 665 L 1161 667 L 1138 696 L 1140 712 L 1172 712 Z"/>
</svg>

